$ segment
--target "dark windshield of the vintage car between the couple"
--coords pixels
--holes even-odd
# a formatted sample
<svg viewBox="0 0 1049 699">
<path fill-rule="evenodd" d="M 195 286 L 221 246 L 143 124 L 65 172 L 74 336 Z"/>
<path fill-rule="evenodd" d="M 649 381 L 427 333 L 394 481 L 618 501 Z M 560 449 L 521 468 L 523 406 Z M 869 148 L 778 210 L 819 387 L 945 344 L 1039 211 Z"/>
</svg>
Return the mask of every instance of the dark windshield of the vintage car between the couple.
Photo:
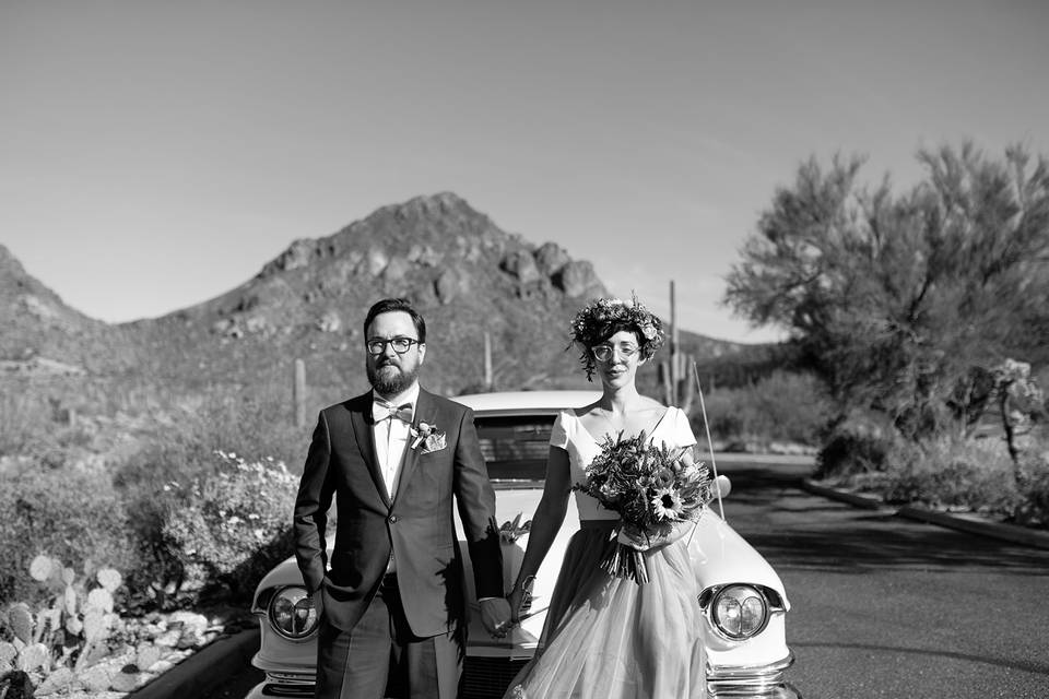
<svg viewBox="0 0 1049 699">
<path fill-rule="evenodd" d="M 546 476 L 554 415 L 514 415 L 474 419 L 481 453 L 494 482 L 542 482 Z"/>
</svg>

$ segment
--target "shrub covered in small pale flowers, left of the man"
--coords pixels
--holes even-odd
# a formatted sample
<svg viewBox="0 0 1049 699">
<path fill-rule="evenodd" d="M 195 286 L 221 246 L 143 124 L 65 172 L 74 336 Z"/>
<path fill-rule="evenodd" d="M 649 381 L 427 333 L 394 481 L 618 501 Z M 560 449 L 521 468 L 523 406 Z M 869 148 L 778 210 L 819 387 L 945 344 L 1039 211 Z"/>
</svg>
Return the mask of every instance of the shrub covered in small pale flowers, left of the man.
<svg viewBox="0 0 1049 699">
<path fill-rule="evenodd" d="M 148 589 L 199 600 L 246 601 L 266 572 L 292 555 L 291 512 L 298 479 L 272 459 L 248 462 L 216 451 L 215 467 L 188 482 L 170 482 L 135 512 L 150 524 L 140 549 L 161 576 Z"/>
</svg>

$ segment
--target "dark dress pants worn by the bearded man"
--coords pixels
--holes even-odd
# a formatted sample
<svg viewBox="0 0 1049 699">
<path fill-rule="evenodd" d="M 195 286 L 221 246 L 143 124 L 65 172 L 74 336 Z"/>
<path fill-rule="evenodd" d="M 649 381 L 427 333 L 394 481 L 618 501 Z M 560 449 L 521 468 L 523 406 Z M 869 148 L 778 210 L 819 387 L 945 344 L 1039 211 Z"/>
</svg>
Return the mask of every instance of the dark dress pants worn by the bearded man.
<svg viewBox="0 0 1049 699">
<path fill-rule="evenodd" d="M 317 699 L 456 699 L 465 655 L 464 626 L 421 638 L 404 617 L 396 573 L 389 573 L 351 631 L 321 619 Z"/>
</svg>

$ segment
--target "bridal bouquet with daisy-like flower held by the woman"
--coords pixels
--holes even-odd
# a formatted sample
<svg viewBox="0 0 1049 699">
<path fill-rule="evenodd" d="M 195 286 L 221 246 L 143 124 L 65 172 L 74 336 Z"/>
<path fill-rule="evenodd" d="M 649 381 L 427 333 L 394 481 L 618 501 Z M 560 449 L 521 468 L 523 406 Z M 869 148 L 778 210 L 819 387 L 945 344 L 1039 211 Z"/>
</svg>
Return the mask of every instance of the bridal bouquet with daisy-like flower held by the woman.
<svg viewBox="0 0 1049 699">
<path fill-rule="evenodd" d="M 644 431 L 628 438 L 606 435 L 600 446 L 586 482 L 573 489 L 618 513 L 620 534 L 601 567 L 641 584 L 648 582 L 643 553 L 670 541 L 679 524 L 699 519 L 712 497 L 710 474 L 702 462 L 682 461 L 688 447 L 650 445 Z"/>
</svg>

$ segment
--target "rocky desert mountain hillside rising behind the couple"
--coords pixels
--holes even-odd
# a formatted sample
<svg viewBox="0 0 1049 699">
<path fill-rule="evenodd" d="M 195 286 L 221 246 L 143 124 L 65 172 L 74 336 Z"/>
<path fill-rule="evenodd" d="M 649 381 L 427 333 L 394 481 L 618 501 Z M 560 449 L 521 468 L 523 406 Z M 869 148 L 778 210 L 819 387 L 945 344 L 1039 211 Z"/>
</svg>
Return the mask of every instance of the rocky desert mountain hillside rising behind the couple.
<svg viewBox="0 0 1049 699">
<path fill-rule="evenodd" d="M 288 386 L 302 358 L 310 388 L 326 395 L 366 388 L 361 324 L 387 296 L 412 299 L 425 316 L 425 382 L 434 390 L 481 387 L 485 332 L 496 388 L 586 386 L 565 332 L 581 304 L 606 294 L 590 262 L 505 233 L 452 193 L 384 206 L 333 235 L 296 240 L 236 288 L 161 318 L 119 325 L 87 318 L 3 248 L 0 292 L 8 375 L 43 371 L 43 360 L 96 381 L 251 391 Z M 700 359 L 747 347 L 688 332 L 681 344 Z M 655 367 L 646 371 L 643 381 L 653 383 Z"/>
</svg>

